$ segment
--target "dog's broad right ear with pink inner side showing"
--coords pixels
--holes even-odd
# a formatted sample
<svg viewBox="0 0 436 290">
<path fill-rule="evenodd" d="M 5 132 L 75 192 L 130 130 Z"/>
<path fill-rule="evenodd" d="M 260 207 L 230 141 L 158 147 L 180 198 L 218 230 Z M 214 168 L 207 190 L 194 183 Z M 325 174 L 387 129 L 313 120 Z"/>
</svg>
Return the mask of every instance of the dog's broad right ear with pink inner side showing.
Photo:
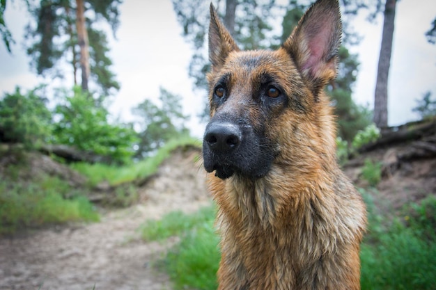
<svg viewBox="0 0 436 290">
<path fill-rule="evenodd" d="M 314 92 L 336 76 L 341 34 L 338 0 L 318 0 L 283 44 Z"/>
</svg>

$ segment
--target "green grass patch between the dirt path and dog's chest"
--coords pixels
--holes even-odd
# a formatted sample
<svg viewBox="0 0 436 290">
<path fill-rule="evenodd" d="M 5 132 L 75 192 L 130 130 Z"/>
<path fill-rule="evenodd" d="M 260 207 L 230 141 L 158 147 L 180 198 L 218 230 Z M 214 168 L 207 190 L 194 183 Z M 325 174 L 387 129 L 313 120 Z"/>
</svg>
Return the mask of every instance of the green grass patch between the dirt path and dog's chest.
<svg viewBox="0 0 436 290">
<path fill-rule="evenodd" d="M 219 262 L 219 239 L 213 223 L 214 206 L 200 209 L 194 214 L 180 211 L 166 214 L 162 220 L 148 220 L 141 227 L 146 241 L 181 236 L 164 258 L 164 266 L 176 289 L 217 289 L 216 273 Z"/>
</svg>

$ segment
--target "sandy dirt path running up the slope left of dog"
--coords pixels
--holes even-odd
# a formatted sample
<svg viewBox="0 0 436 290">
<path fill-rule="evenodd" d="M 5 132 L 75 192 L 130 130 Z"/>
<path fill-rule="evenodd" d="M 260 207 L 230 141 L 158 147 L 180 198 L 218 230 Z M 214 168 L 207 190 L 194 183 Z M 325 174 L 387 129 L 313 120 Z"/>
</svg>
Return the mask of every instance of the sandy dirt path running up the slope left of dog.
<svg viewBox="0 0 436 290">
<path fill-rule="evenodd" d="M 196 155 L 172 156 L 141 188 L 140 204 L 103 214 L 100 223 L 0 239 L 0 289 L 171 289 L 166 274 L 150 266 L 168 245 L 144 243 L 137 229 L 148 218 L 210 202 Z"/>
</svg>

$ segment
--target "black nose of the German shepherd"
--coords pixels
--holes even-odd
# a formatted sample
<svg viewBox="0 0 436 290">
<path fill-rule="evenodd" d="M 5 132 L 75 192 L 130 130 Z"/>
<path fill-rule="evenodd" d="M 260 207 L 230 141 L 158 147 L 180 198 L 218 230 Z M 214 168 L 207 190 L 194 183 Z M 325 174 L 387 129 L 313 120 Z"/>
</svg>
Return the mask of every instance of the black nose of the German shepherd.
<svg viewBox="0 0 436 290">
<path fill-rule="evenodd" d="M 240 145 L 241 131 L 235 124 L 214 122 L 206 128 L 204 140 L 212 151 L 230 152 Z"/>
</svg>

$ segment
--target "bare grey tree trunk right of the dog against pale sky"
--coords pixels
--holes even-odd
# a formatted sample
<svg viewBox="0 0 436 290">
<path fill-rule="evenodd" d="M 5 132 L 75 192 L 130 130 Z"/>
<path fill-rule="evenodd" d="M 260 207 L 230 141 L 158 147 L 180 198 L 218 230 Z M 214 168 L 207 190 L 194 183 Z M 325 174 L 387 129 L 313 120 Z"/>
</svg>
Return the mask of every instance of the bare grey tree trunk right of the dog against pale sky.
<svg viewBox="0 0 436 290">
<path fill-rule="evenodd" d="M 392 40 L 394 38 L 396 0 L 386 0 L 382 33 L 382 47 L 378 60 L 377 82 L 374 95 L 374 122 L 378 128 L 387 127 L 387 81 L 391 65 Z"/>
</svg>

